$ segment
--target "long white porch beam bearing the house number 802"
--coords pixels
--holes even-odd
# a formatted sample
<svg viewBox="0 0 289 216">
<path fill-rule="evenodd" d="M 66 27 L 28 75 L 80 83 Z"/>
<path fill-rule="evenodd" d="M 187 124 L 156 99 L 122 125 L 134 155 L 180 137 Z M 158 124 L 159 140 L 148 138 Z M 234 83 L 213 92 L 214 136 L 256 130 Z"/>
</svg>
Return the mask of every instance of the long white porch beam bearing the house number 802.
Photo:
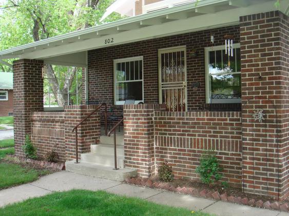
<svg viewBox="0 0 289 216">
<path fill-rule="evenodd" d="M 20 58 L 42 59 L 48 56 L 59 56 L 85 50 L 93 50 L 115 45 L 127 44 L 129 42 L 147 40 L 151 38 L 176 35 L 187 32 L 195 32 L 212 28 L 219 28 L 239 24 L 239 17 L 254 13 L 261 13 L 273 10 L 272 2 L 262 5 L 252 5 L 246 8 L 236 8 L 220 11 L 215 14 L 204 14 L 190 17 L 184 20 L 175 20 L 157 26 L 148 26 L 132 31 L 125 31 L 118 34 L 107 35 L 99 38 L 91 38 L 72 44 L 58 46 L 45 50 L 38 50 L 32 53 L 24 53 Z M 216 17 L 218 17 L 216 19 Z M 173 30 L 173 31 L 172 31 Z M 105 40 L 113 38 L 113 42 L 105 44 Z"/>
</svg>

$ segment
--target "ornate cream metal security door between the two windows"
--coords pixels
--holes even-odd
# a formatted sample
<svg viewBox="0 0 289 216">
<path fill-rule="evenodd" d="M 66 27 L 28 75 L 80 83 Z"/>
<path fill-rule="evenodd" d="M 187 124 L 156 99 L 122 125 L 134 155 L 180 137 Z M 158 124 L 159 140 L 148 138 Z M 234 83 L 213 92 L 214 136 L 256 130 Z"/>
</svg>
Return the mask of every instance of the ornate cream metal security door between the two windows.
<svg viewBox="0 0 289 216">
<path fill-rule="evenodd" d="M 159 96 L 167 110 L 187 110 L 186 48 L 159 50 Z"/>
</svg>

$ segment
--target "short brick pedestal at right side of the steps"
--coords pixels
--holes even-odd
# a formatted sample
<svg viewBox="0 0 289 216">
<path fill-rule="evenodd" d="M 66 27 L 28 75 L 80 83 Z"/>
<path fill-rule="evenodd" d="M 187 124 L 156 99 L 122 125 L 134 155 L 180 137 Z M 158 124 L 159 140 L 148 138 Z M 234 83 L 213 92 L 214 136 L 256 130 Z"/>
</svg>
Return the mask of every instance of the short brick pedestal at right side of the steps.
<svg viewBox="0 0 289 216">
<path fill-rule="evenodd" d="M 154 114 L 164 104 L 124 105 L 125 166 L 138 169 L 141 177 L 155 172 Z"/>
</svg>

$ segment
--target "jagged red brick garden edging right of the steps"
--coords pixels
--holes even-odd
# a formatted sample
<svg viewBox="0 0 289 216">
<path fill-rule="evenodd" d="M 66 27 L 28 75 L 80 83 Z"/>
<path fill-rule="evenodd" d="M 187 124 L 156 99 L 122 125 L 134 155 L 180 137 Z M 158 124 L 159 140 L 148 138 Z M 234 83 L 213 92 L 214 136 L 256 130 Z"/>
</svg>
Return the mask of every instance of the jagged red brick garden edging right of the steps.
<svg viewBox="0 0 289 216">
<path fill-rule="evenodd" d="M 156 176 L 151 178 L 127 178 L 125 182 L 145 187 L 169 190 L 194 197 L 221 200 L 253 207 L 275 209 L 289 212 L 288 199 L 276 201 L 271 198 L 242 192 L 242 188 L 227 187 L 222 185 L 207 185 L 193 180 L 175 179 L 171 182 L 161 182 Z"/>
</svg>

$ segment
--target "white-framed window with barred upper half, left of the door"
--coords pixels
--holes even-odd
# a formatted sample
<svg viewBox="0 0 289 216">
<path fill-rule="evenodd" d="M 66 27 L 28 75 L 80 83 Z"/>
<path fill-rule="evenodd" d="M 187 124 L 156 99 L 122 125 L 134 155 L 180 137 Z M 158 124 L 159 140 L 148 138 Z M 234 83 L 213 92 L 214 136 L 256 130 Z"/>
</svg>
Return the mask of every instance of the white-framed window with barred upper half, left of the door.
<svg viewBox="0 0 289 216">
<path fill-rule="evenodd" d="M 127 99 L 143 102 L 143 56 L 115 59 L 113 64 L 114 104 L 123 105 Z"/>
</svg>

